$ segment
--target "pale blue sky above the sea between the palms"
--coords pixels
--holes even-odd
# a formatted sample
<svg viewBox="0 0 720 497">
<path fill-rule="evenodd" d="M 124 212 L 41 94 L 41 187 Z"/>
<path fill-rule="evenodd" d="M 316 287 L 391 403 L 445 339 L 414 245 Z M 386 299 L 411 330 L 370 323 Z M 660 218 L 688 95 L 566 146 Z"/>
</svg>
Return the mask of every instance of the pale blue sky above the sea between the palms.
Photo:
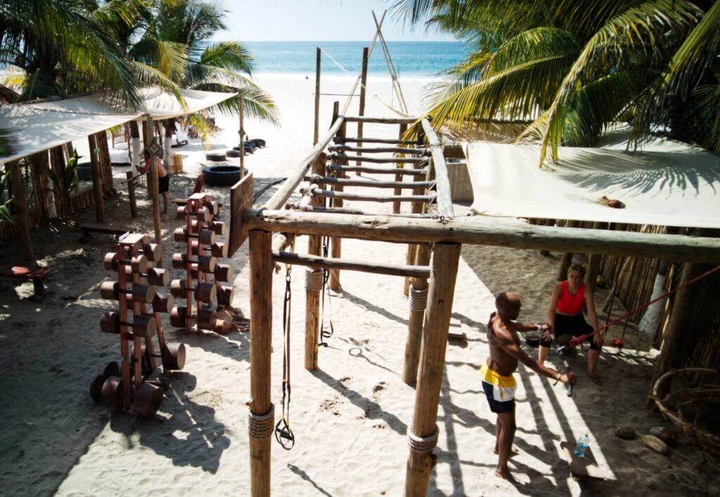
<svg viewBox="0 0 720 497">
<path fill-rule="evenodd" d="M 375 24 L 395 0 L 223 0 L 228 11 L 228 31 L 216 40 L 246 41 L 327 41 L 372 40 Z M 420 26 L 411 31 L 390 12 L 382 24 L 385 40 L 449 41 L 448 35 L 426 32 Z"/>
</svg>

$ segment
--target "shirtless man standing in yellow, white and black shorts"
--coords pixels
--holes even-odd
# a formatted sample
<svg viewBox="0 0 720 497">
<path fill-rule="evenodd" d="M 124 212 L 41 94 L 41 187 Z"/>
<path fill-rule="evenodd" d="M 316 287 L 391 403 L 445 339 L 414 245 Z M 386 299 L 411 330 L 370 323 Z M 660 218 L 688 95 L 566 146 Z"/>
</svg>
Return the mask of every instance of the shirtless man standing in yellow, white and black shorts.
<svg viewBox="0 0 720 497">
<path fill-rule="evenodd" d="M 531 359 L 523 349 L 520 348 L 518 332 L 536 331 L 538 327 L 534 324 L 516 323 L 520 315 L 521 303 L 517 295 L 510 292 L 503 292 L 495 299 L 497 313 L 490 315 L 490 322 L 487 323 L 487 341 L 490 344 L 490 357 L 482 365 L 480 376 L 482 377 L 482 390 L 490 404 L 490 411 L 498 414 L 498 421 L 495 426 L 495 454 L 498 455 L 498 467 L 495 475 L 500 478 L 512 479 L 508 470 L 508 458 L 510 449 L 513 446 L 515 436 L 515 378 L 513 372 L 518 369 L 518 362 L 522 362 L 539 375 L 562 381 L 563 383 L 574 383 L 575 375 L 572 372 L 559 373 L 545 367 Z M 548 325 L 540 326 L 544 331 Z"/>
</svg>

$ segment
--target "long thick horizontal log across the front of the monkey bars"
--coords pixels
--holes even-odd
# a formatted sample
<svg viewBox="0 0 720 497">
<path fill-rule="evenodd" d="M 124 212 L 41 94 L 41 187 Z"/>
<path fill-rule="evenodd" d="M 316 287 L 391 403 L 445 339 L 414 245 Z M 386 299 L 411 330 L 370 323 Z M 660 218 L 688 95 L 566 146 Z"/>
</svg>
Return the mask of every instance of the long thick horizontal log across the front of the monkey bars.
<svg viewBox="0 0 720 497">
<path fill-rule="evenodd" d="M 395 243 L 445 242 L 505 246 L 529 250 L 572 250 L 597 254 L 652 257 L 675 261 L 719 262 L 720 238 L 657 235 L 502 223 L 483 217 L 451 220 L 349 216 L 329 212 L 248 209 L 250 229 L 319 234 Z"/>
</svg>

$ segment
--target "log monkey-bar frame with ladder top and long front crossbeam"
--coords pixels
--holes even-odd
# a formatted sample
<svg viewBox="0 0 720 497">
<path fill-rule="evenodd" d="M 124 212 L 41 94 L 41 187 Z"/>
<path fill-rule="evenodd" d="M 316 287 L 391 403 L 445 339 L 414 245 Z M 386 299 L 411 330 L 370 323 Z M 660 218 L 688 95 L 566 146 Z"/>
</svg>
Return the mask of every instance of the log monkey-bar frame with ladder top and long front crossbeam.
<svg viewBox="0 0 720 497">
<path fill-rule="evenodd" d="M 399 126 L 399 138 L 348 138 L 348 122 Z M 427 120 L 420 121 L 423 131 L 417 141 L 403 140 L 404 130 L 413 122 L 416 120 L 343 117 L 338 115 L 336 104 L 333 124 L 327 135 L 318 141 L 312 153 L 292 171 L 268 202 L 259 208 L 252 207 L 252 175 L 233 187 L 230 253 L 250 238 L 251 403 L 248 424 L 253 496 L 271 494 L 274 408 L 270 398 L 270 355 L 275 262 L 315 269 L 306 273 L 305 285 L 305 367 L 308 370 L 318 367 L 322 278 L 320 285 L 314 286 L 313 273 L 322 274 L 322 269 L 329 269 L 329 285 L 335 289 L 339 288 L 339 271 L 343 269 L 413 278 L 403 380 L 408 384 L 415 383 L 415 411 L 408 432 L 410 453 L 405 494 L 424 496 L 428 491 L 433 447 L 438 439 L 438 401 L 463 243 L 652 256 L 692 262 L 720 261 L 720 240 L 717 238 L 570 230 L 541 225 L 515 227 L 487 218 L 455 218 L 441 143 Z M 361 156 L 357 153 L 360 145 L 366 145 L 361 148 Z M 350 155 L 352 153 L 356 155 Z M 392 155 L 387 156 L 387 153 Z M 358 165 L 348 165 L 351 161 Z M 369 181 L 358 177 L 363 171 L 394 176 L 394 181 Z M 357 174 L 348 176 L 348 173 Z M 307 186 L 301 190 L 300 201 L 287 205 L 303 180 Z M 392 189 L 393 194 L 355 194 L 344 192 L 344 187 Z M 403 194 L 407 189 L 412 193 Z M 332 199 L 330 207 L 322 206 L 325 197 Z M 343 207 L 343 200 L 393 202 L 394 209 L 392 214 L 347 209 Z M 410 202 L 411 212 L 401 214 L 400 202 Z M 309 254 L 288 252 L 293 238 L 302 235 L 310 236 Z M 330 258 L 320 256 L 323 236 L 333 237 Z M 341 259 L 342 238 L 408 243 L 408 258 L 402 265 Z"/>
</svg>

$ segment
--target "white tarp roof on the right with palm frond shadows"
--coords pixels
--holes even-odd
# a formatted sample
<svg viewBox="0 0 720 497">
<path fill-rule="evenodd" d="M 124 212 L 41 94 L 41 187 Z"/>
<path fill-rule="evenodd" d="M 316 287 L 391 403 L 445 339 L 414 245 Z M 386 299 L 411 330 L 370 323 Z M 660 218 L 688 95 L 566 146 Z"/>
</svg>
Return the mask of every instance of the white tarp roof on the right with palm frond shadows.
<svg viewBox="0 0 720 497">
<path fill-rule="evenodd" d="M 538 145 L 473 142 L 466 153 L 476 214 L 720 228 L 720 157 L 684 143 L 562 147 L 543 169 Z"/>
</svg>

